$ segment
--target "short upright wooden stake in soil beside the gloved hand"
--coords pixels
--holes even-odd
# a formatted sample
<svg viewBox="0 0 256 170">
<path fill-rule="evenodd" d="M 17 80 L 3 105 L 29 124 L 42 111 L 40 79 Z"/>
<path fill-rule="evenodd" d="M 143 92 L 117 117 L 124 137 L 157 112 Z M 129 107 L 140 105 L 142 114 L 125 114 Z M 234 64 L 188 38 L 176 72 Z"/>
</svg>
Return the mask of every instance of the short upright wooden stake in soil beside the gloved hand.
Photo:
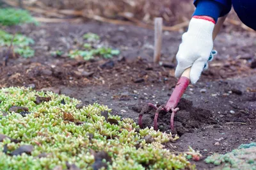
<svg viewBox="0 0 256 170">
<path fill-rule="evenodd" d="M 162 49 L 162 29 L 163 29 L 163 19 L 155 19 L 155 47 L 154 47 L 154 62 L 158 63 L 160 61 L 161 49 Z"/>
</svg>

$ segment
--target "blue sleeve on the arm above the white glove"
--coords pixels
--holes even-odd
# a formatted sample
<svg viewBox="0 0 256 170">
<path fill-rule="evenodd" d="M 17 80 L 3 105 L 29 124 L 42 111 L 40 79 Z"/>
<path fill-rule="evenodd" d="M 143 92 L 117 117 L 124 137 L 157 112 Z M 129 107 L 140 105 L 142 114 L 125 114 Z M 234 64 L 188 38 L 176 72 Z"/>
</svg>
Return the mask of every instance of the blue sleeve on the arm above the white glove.
<svg viewBox="0 0 256 170">
<path fill-rule="evenodd" d="M 216 22 L 218 17 L 223 17 L 230 12 L 232 7 L 231 0 L 194 0 L 196 6 L 193 15 L 207 15 Z"/>
</svg>

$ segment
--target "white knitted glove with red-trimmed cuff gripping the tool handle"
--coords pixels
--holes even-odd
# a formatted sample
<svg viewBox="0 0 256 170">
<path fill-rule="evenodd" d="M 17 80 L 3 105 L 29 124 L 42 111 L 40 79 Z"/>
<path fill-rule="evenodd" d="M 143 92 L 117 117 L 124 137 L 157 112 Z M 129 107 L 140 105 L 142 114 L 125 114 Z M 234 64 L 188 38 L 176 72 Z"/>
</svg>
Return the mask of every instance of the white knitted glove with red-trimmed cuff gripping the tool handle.
<svg viewBox="0 0 256 170">
<path fill-rule="evenodd" d="M 175 77 L 180 77 L 184 70 L 191 67 L 190 81 L 192 84 L 198 81 L 211 54 L 214 26 L 215 24 L 209 20 L 190 20 L 188 31 L 182 35 L 182 43 L 176 55 L 178 65 Z"/>
</svg>

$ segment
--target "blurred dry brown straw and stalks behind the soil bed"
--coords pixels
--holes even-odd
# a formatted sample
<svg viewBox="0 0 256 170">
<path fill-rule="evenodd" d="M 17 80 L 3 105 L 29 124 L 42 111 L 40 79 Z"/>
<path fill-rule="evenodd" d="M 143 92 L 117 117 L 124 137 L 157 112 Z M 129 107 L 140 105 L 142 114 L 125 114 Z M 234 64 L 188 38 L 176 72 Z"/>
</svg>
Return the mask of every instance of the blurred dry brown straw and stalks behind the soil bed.
<svg viewBox="0 0 256 170">
<path fill-rule="evenodd" d="M 195 10 L 193 0 L 1 0 L 0 2 L 25 8 L 37 17 L 41 17 L 38 19 L 40 22 L 73 19 L 72 22 L 79 23 L 99 20 L 124 24 L 126 21 L 125 24 L 150 27 L 149 25 L 154 24 L 154 17 L 163 17 L 164 26 L 177 26 L 170 31 L 188 26 L 188 21 Z M 249 29 L 240 22 L 233 10 L 224 27 Z"/>
</svg>

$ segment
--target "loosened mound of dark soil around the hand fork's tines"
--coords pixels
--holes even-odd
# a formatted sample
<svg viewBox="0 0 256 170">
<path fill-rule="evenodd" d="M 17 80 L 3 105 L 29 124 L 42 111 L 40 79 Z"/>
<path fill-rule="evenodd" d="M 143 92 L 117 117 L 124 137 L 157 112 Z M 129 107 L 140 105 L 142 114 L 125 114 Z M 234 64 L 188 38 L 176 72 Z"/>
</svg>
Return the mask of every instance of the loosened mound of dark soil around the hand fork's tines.
<svg viewBox="0 0 256 170">
<path fill-rule="evenodd" d="M 174 125 L 175 130 L 173 134 L 183 135 L 185 133 L 194 132 L 195 128 L 199 128 L 202 124 L 216 124 L 216 120 L 212 118 L 211 111 L 193 107 L 193 102 L 181 98 L 179 104 L 179 111 L 175 114 Z M 140 114 L 143 114 L 142 127 L 154 126 L 154 116 L 156 109 L 145 105 L 141 109 Z M 157 120 L 157 125 L 160 131 L 170 131 L 170 119 L 172 112 L 160 111 Z"/>
</svg>

